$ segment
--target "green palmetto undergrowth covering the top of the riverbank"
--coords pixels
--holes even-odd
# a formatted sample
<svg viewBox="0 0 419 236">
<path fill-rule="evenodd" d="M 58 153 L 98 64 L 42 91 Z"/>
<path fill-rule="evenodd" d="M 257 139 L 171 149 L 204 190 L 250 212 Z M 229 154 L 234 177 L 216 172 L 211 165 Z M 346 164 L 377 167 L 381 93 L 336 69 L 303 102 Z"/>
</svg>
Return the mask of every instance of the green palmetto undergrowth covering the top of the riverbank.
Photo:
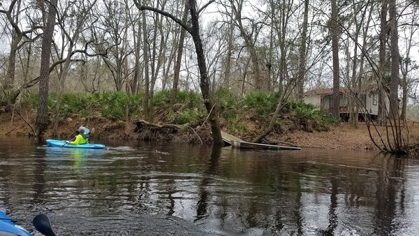
<svg viewBox="0 0 419 236">
<path fill-rule="evenodd" d="M 66 117 L 103 118 L 112 121 L 142 119 L 144 115 L 144 93 L 126 94 L 124 92 L 106 91 L 94 94 L 67 93 L 62 95 L 59 120 Z M 279 94 L 252 92 L 237 95 L 227 89 L 214 93 L 214 103 L 219 109 L 221 126 L 228 126 L 233 133 L 246 133 L 247 121 L 269 122 L 277 103 Z M 50 94 L 48 108 L 50 117 L 57 105 L 57 94 Z M 207 111 L 200 93 L 179 91 L 176 101 L 172 101 L 172 91 L 158 91 L 153 96 L 154 121 L 170 124 L 202 124 L 207 119 Z M 36 109 L 36 94 L 22 96 L 22 105 Z M 298 122 L 310 124 L 319 131 L 337 124 L 339 119 L 327 115 L 314 105 L 290 102 L 281 114 L 295 117 Z M 53 118 L 51 118 L 53 119 Z"/>
</svg>

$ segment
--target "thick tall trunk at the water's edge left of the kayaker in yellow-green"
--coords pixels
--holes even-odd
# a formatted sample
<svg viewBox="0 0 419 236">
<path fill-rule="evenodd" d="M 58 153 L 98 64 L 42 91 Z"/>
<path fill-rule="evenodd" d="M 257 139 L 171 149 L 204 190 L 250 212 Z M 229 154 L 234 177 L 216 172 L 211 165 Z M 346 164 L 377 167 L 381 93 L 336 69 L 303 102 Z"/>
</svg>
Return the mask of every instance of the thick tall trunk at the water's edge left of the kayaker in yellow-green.
<svg viewBox="0 0 419 236">
<path fill-rule="evenodd" d="M 48 82 L 50 81 L 50 54 L 52 36 L 54 35 L 54 24 L 57 7 L 57 0 L 51 0 L 48 8 L 47 24 L 43 29 L 42 51 L 41 51 L 41 73 L 39 78 L 39 103 L 36 113 L 35 135 L 40 137 L 50 123 L 48 118 Z"/>
</svg>

